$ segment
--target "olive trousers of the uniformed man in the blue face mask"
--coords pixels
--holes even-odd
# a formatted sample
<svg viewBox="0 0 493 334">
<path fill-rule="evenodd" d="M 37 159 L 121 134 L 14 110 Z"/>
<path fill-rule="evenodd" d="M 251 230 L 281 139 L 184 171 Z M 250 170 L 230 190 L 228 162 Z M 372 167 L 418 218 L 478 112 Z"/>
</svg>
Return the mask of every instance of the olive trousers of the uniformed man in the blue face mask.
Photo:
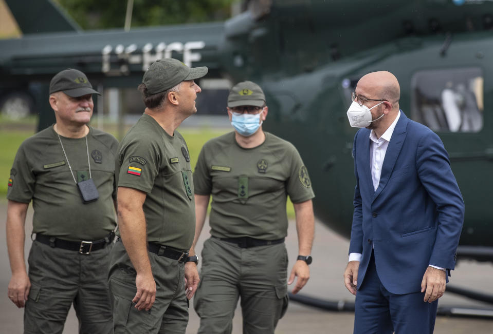
<svg viewBox="0 0 493 334">
<path fill-rule="evenodd" d="M 202 250 L 195 293 L 199 333 L 231 333 L 241 296 L 243 333 L 273 333 L 287 304 L 287 251 L 284 243 L 241 248 L 210 238 Z"/>
</svg>

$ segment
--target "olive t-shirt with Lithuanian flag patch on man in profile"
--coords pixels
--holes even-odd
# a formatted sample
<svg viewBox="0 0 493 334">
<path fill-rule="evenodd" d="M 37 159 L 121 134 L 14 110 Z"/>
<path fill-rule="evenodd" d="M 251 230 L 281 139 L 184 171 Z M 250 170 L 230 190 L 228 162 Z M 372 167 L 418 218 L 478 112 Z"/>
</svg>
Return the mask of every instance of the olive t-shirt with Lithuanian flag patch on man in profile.
<svg viewBox="0 0 493 334">
<path fill-rule="evenodd" d="M 192 170 L 185 140 L 143 114 L 118 149 L 118 187 L 141 190 L 148 241 L 188 250 L 195 233 Z"/>
</svg>

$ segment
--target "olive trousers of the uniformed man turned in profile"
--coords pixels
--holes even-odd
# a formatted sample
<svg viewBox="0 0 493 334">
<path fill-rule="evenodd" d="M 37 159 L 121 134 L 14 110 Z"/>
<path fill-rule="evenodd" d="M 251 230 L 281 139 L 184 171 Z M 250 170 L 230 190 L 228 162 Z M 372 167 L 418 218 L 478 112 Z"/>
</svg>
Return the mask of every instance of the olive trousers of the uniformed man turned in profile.
<svg viewBox="0 0 493 334">
<path fill-rule="evenodd" d="M 184 263 L 148 252 L 156 282 L 156 301 L 149 311 L 137 310 L 132 302 L 137 288 L 136 271 L 122 242 L 117 242 L 109 260 L 109 290 L 113 302 L 115 333 L 185 333 L 188 300 L 185 295 Z"/>
</svg>

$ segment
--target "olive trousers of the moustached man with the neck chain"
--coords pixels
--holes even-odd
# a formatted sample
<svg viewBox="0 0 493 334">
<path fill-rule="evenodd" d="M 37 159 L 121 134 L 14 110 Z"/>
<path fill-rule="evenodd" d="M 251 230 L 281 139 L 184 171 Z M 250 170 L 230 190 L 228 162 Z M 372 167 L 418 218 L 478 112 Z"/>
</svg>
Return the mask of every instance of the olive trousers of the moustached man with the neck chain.
<svg viewBox="0 0 493 334">
<path fill-rule="evenodd" d="M 111 248 L 85 255 L 34 241 L 28 258 L 31 290 L 24 333 L 61 333 L 72 303 L 80 333 L 111 333 L 106 269 Z"/>
</svg>

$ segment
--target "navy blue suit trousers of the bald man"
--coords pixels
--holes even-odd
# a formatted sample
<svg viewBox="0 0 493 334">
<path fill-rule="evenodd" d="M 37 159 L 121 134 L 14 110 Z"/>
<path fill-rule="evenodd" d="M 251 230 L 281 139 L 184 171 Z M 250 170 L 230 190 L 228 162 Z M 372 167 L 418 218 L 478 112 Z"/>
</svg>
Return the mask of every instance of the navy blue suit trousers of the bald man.
<svg viewBox="0 0 493 334">
<path fill-rule="evenodd" d="M 394 294 L 382 285 L 372 256 L 356 293 L 354 333 L 431 334 L 438 300 L 425 303 L 424 292 Z"/>
</svg>

